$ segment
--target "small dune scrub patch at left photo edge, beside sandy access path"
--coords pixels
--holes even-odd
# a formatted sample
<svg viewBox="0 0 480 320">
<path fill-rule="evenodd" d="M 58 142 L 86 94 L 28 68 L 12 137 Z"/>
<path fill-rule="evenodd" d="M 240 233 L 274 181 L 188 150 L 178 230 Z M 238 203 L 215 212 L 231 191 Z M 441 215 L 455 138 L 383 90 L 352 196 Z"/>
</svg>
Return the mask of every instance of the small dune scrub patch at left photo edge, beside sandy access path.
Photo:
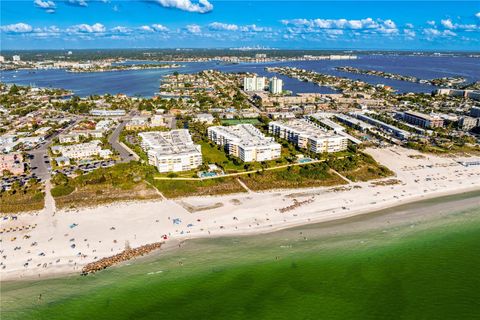
<svg viewBox="0 0 480 320">
<path fill-rule="evenodd" d="M 42 185 L 34 179 L 26 186 L 16 182 L 10 190 L 0 192 L 0 213 L 41 210 L 44 204 Z"/>
</svg>

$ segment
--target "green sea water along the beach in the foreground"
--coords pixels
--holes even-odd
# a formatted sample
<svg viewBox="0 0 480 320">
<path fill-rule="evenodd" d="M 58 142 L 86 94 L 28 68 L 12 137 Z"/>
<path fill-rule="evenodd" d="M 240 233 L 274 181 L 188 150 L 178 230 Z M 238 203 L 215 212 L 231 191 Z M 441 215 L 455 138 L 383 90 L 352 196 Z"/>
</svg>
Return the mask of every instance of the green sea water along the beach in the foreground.
<svg viewBox="0 0 480 320">
<path fill-rule="evenodd" d="M 188 241 L 95 276 L 2 283 L 2 318 L 479 319 L 479 213 Z"/>
</svg>

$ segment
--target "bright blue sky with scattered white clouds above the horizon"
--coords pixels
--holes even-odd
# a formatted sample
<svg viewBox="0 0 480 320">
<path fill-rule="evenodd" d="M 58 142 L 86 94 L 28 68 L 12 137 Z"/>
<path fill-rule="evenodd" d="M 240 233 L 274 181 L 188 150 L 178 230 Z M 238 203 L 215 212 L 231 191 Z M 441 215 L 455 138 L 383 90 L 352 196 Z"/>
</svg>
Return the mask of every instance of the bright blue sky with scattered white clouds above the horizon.
<svg viewBox="0 0 480 320">
<path fill-rule="evenodd" d="M 0 49 L 480 51 L 480 1 L 0 0 Z"/>
</svg>

